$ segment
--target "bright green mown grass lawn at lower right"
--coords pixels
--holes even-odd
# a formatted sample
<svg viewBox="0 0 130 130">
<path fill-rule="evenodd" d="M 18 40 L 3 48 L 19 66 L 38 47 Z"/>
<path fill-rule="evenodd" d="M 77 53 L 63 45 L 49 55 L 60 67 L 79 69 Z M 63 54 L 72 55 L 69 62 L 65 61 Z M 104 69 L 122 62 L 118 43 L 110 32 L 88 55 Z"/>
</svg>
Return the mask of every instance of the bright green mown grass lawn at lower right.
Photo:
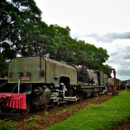
<svg viewBox="0 0 130 130">
<path fill-rule="evenodd" d="M 48 130 L 111 130 L 116 122 L 127 122 L 130 117 L 130 92 L 122 91 L 99 105 L 89 105 L 67 120 Z"/>
</svg>

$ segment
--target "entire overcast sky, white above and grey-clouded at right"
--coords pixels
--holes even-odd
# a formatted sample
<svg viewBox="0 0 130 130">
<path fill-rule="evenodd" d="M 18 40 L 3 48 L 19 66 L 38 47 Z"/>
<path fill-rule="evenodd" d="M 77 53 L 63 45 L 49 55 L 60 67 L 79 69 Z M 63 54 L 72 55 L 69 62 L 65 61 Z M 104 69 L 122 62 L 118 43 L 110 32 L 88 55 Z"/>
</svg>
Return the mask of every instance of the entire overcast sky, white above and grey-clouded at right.
<svg viewBox="0 0 130 130">
<path fill-rule="evenodd" d="M 117 78 L 130 79 L 130 0 L 35 0 L 48 25 L 69 26 L 71 36 L 110 55 Z"/>
</svg>

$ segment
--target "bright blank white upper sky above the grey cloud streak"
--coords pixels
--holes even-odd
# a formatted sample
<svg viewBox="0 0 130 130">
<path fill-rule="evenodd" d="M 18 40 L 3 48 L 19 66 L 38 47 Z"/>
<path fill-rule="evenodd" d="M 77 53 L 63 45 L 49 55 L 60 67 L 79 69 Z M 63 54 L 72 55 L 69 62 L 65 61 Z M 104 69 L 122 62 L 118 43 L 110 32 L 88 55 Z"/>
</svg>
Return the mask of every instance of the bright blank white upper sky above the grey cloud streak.
<svg viewBox="0 0 130 130">
<path fill-rule="evenodd" d="M 129 0 L 35 0 L 48 24 L 75 33 L 124 32 L 130 28 Z M 129 27 L 128 27 L 129 25 Z"/>
</svg>

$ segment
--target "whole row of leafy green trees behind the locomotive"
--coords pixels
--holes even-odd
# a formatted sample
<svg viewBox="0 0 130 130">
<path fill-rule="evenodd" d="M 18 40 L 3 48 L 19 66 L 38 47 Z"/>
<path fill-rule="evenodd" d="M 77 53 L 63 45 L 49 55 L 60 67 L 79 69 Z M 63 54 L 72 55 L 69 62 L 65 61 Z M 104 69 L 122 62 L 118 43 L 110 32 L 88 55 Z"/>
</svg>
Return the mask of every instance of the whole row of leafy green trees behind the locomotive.
<svg viewBox="0 0 130 130">
<path fill-rule="evenodd" d="M 110 76 L 107 50 L 70 36 L 70 28 L 47 25 L 34 0 L 0 1 L 0 77 L 7 75 L 8 61 L 18 56 L 54 56 Z"/>
</svg>

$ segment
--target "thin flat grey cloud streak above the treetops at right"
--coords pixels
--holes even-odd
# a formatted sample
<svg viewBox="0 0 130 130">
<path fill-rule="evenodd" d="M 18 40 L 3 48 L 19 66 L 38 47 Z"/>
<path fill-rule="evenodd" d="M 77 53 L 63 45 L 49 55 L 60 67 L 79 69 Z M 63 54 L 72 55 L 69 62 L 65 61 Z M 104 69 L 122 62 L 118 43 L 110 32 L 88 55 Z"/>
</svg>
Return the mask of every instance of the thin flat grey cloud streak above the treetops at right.
<svg viewBox="0 0 130 130">
<path fill-rule="evenodd" d="M 124 33 L 107 33 L 103 36 L 100 36 L 98 34 L 89 34 L 86 35 L 86 37 L 93 37 L 97 41 L 102 42 L 113 42 L 114 40 L 118 39 L 130 39 L 130 32 L 124 32 Z"/>
</svg>

